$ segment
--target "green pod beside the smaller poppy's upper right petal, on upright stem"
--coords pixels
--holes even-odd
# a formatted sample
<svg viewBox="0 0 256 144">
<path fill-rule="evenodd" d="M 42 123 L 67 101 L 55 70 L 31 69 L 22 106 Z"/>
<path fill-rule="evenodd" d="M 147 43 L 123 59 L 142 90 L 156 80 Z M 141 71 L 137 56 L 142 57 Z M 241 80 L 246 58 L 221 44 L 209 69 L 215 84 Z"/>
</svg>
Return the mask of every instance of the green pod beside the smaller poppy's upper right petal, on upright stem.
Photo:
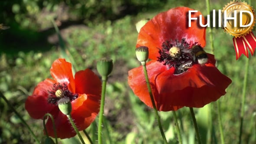
<svg viewBox="0 0 256 144">
<path fill-rule="evenodd" d="M 107 77 L 113 70 L 113 61 L 112 59 L 102 58 L 97 62 L 98 73 L 102 77 Z"/>
</svg>

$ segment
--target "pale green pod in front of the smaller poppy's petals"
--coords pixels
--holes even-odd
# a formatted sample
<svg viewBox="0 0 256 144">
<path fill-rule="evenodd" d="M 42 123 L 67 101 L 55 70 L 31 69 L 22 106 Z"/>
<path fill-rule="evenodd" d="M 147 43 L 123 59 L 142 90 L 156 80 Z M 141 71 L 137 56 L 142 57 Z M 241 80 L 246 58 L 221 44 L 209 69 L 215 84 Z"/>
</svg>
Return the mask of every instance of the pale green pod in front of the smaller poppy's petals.
<svg viewBox="0 0 256 144">
<path fill-rule="evenodd" d="M 59 106 L 59 110 L 64 115 L 70 115 L 70 113 L 72 111 L 72 105 L 71 105 L 71 102 L 69 101 L 69 98 L 61 98 L 58 101 L 58 106 Z"/>
</svg>

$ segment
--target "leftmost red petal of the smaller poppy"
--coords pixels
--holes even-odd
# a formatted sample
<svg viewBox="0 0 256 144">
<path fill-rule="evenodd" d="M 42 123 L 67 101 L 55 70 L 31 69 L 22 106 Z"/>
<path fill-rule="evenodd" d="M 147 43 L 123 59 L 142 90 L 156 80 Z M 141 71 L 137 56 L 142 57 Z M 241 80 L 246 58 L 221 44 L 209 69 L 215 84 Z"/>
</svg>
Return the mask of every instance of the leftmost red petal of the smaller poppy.
<svg viewBox="0 0 256 144">
<path fill-rule="evenodd" d="M 46 113 L 51 113 L 57 108 L 56 105 L 48 103 L 48 90 L 52 88 L 54 83 L 55 81 L 52 79 L 46 79 L 40 82 L 36 86 L 33 95 L 26 99 L 25 109 L 32 118 L 43 118 Z"/>
</svg>

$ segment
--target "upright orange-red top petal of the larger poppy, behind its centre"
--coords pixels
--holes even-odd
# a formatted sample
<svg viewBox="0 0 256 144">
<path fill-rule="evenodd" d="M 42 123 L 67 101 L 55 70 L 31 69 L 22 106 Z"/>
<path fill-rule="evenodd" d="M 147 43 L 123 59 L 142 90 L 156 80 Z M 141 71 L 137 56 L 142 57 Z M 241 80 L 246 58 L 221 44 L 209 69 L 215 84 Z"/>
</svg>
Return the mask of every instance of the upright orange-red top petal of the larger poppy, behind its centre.
<svg viewBox="0 0 256 144">
<path fill-rule="evenodd" d="M 140 30 L 136 47 L 148 46 L 149 59 L 157 60 L 158 49 L 166 40 L 179 40 L 185 38 L 187 43 L 198 42 L 205 46 L 205 28 L 197 25 L 198 20 L 191 20 L 188 27 L 188 7 L 176 7 L 159 13 L 149 20 Z M 201 13 L 191 13 L 191 17 L 199 17 Z M 199 19 L 199 18 L 198 18 Z M 204 22 L 204 18 L 202 18 Z"/>
</svg>

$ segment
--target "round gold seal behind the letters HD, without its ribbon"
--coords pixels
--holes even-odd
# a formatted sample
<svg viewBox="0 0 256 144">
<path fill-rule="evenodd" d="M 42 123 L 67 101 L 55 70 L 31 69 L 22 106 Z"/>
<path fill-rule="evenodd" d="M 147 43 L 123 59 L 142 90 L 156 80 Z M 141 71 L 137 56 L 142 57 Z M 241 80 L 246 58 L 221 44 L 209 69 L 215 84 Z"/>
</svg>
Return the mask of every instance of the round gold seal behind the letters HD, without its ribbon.
<svg viewBox="0 0 256 144">
<path fill-rule="evenodd" d="M 243 10 L 243 13 L 240 17 L 240 12 L 242 10 Z M 246 13 L 245 11 L 249 11 L 250 13 L 253 14 L 253 16 L 251 16 L 249 13 Z M 236 37 L 246 36 L 246 34 L 252 31 L 253 26 L 255 24 L 255 20 L 256 20 L 255 13 L 253 8 L 250 7 L 250 5 L 247 4 L 246 2 L 239 2 L 234 0 L 233 2 L 228 3 L 225 7 L 223 7 L 222 16 L 224 16 L 225 14 L 226 14 L 226 17 L 228 18 L 236 17 L 236 20 L 232 20 L 232 19 L 226 20 L 226 26 L 224 25 L 225 20 L 223 20 L 223 17 L 222 17 L 222 26 L 226 33 L 229 33 L 230 35 L 235 36 L 236 38 Z M 251 23 L 251 19 L 253 19 L 253 22 L 252 24 L 249 25 L 249 23 Z M 235 21 L 236 21 L 236 24 L 235 24 Z M 246 26 L 246 25 L 249 25 L 249 26 Z M 246 27 L 243 27 L 243 26 L 246 26 Z"/>
</svg>

